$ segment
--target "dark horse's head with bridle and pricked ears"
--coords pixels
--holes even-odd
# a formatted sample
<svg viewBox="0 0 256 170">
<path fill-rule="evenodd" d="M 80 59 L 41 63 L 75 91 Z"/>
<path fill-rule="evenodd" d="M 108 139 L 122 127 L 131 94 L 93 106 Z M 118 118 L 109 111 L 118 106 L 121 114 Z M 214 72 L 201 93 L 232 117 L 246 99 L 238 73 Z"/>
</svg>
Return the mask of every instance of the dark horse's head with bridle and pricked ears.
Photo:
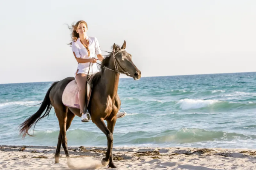
<svg viewBox="0 0 256 170">
<path fill-rule="evenodd" d="M 141 77 L 141 72 L 136 65 L 134 65 L 131 54 L 129 54 L 125 48 L 126 42 L 123 43 L 121 48 L 116 44 L 113 45 L 111 57 L 113 57 L 114 60 L 115 71 L 138 80 Z"/>
</svg>

